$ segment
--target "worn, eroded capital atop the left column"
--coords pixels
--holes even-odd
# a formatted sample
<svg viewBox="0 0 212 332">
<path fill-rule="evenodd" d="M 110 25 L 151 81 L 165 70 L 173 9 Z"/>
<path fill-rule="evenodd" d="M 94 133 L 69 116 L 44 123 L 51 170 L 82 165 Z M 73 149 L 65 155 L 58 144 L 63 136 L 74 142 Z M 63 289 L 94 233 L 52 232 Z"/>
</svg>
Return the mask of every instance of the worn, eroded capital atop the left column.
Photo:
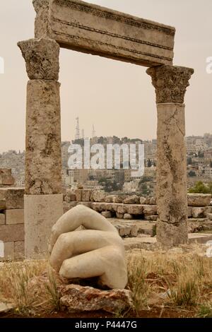
<svg viewBox="0 0 212 332">
<path fill-rule="evenodd" d="M 59 79 L 59 44 L 49 38 L 18 42 L 30 80 Z"/>
</svg>

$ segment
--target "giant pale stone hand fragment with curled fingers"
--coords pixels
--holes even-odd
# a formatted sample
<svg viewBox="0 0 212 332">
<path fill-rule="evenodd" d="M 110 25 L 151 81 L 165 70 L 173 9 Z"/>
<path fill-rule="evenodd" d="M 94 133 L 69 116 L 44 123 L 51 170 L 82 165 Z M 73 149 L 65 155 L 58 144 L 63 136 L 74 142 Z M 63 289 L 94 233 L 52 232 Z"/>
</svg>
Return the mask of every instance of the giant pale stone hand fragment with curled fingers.
<svg viewBox="0 0 212 332">
<path fill-rule="evenodd" d="M 77 230 L 83 226 L 85 229 Z M 116 228 L 102 215 L 78 205 L 52 227 L 50 264 L 63 278 L 99 277 L 111 289 L 127 283 L 124 244 Z"/>
</svg>

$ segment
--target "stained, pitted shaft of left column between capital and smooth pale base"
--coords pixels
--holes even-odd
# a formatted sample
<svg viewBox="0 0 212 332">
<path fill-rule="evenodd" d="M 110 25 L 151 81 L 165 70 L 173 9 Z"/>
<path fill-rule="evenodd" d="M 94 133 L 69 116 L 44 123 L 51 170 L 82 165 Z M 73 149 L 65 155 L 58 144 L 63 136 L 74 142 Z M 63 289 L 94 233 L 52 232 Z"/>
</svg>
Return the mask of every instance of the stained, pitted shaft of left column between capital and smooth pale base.
<svg viewBox="0 0 212 332">
<path fill-rule="evenodd" d="M 61 194 L 59 83 L 28 82 L 25 194 Z"/>
</svg>

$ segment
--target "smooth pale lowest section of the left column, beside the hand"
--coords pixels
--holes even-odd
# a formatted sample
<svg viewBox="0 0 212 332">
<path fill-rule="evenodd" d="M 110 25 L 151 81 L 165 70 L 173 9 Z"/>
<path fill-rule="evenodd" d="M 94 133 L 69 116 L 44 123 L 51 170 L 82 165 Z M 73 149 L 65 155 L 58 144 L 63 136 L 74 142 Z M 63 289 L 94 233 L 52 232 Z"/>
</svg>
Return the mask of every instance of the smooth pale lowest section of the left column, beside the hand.
<svg viewBox="0 0 212 332">
<path fill-rule="evenodd" d="M 25 195 L 24 207 L 25 258 L 42 259 L 52 226 L 63 215 L 63 195 Z"/>
</svg>

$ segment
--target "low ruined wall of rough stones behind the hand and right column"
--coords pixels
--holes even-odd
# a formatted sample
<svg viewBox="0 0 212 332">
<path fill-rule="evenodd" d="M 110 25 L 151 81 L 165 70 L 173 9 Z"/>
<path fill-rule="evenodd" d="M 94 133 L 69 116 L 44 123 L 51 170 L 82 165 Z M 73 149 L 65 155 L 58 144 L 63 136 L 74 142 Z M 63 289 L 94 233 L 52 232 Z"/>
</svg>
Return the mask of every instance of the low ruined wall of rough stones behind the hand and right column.
<svg viewBox="0 0 212 332">
<path fill-rule="evenodd" d="M 78 189 L 64 192 L 64 213 L 83 204 L 110 218 L 122 237 L 154 236 L 158 207 L 154 197 L 107 195 L 104 191 Z M 188 194 L 190 233 L 212 230 L 211 195 Z"/>
</svg>

